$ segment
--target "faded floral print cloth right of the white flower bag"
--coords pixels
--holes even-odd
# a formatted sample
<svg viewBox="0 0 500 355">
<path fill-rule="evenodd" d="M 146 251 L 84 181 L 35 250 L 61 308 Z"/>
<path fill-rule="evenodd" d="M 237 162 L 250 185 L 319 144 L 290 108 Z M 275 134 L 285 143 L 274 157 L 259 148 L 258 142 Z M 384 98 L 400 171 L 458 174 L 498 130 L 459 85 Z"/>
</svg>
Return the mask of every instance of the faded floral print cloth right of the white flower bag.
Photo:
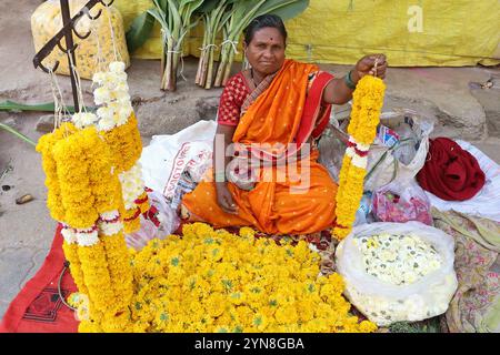
<svg viewBox="0 0 500 355">
<path fill-rule="evenodd" d="M 456 240 L 459 288 L 441 325 L 451 333 L 500 332 L 500 223 L 432 211 L 434 225 Z"/>
</svg>

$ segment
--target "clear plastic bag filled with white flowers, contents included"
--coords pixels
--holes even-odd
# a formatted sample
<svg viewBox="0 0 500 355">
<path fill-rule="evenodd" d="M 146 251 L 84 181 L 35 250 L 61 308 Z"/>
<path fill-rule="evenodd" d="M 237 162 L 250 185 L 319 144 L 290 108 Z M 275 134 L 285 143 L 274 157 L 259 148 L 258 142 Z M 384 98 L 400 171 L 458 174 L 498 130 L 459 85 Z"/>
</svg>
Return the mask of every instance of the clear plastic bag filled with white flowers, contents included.
<svg viewBox="0 0 500 355">
<path fill-rule="evenodd" d="M 419 222 L 356 226 L 336 258 L 346 296 L 379 326 L 440 315 L 457 291 L 453 239 Z"/>
</svg>

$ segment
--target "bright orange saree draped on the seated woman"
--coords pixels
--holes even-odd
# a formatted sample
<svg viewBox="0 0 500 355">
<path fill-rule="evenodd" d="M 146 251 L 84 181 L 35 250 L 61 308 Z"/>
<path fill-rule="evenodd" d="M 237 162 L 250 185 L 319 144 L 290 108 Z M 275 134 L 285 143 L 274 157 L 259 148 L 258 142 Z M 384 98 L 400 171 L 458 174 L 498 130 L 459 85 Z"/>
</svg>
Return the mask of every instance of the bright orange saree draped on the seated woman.
<svg viewBox="0 0 500 355">
<path fill-rule="evenodd" d="M 288 162 L 287 158 L 309 144 L 328 124 L 331 106 L 322 108 L 322 93 L 332 75 L 317 73 L 316 65 L 287 60 L 273 78 L 264 80 L 247 99 L 233 142 L 261 161 Z M 282 148 L 256 148 L 262 143 L 280 143 Z M 337 185 L 317 162 L 318 156 L 318 150 L 312 148 L 297 164 L 260 166 L 250 191 L 228 182 L 238 205 L 237 215 L 219 207 L 212 172 L 184 195 L 182 204 L 216 227 L 253 226 L 268 234 L 320 232 L 333 223 Z"/>
</svg>

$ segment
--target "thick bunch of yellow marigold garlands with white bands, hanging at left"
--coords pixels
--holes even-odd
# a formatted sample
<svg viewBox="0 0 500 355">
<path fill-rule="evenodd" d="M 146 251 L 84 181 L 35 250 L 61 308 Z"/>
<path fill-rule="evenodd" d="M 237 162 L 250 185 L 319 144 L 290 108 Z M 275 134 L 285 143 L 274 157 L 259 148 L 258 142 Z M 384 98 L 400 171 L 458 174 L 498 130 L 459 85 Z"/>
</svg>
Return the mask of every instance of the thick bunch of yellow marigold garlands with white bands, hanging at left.
<svg viewBox="0 0 500 355">
<path fill-rule="evenodd" d="M 37 150 L 42 153 L 51 196 L 48 207 L 63 225 L 64 255 L 79 292 L 87 297 L 81 304 L 88 310 L 84 327 L 118 332 L 130 317 L 133 286 L 118 212 L 123 210 L 121 185 L 112 172 L 111 151 L 94 126 L 77 130 L 71 123 L 40 139 Z"/>
</svg>

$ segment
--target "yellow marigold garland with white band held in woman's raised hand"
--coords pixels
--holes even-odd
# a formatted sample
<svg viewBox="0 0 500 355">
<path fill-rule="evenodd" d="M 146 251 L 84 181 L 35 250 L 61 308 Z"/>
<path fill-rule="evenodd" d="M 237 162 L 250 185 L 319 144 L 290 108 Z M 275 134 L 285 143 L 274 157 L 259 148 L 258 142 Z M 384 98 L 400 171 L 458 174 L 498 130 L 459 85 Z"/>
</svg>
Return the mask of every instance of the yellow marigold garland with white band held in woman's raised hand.
<svg viewBox="0 0 500 355">
<path fill-rule="evenodd" d="M 363 77 L 353 93 L 349 143 L 339 175 L 333 235 L 342 240 L 352 231 L 356 211 L 363 194 L 368 151 L 377 134 L 386 84 L 379 78 Z"/>
</svg>

